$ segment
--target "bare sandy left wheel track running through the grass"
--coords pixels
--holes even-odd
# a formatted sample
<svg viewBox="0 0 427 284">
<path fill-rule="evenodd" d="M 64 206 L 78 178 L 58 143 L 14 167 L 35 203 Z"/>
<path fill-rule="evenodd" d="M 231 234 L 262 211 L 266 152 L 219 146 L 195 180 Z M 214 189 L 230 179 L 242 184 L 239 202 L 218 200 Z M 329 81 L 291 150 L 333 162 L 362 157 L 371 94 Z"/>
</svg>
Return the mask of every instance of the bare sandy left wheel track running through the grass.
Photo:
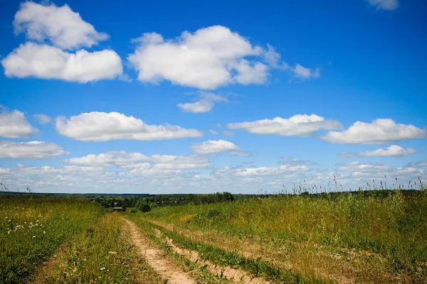
<svg viewBox="0 0 427 284">
<path fill-rule="evenodd" d="M 154 268 L 162 278 L 167 279 L 167 283 L 172 284 L 195 284 L 196 282 L 190 277 L 188 273 L 182 271 L 176 266 L 174 261 L 164 257 L 163 251 L 154 249 L 149 246 L 149 241 L 139 232 L 137 226 L 127 219 L 123 219 L 130 229 L 130 236 L 132 242 L 137 246 L 141 255 L 149 263 L 149 266 Z"/>
</svg>

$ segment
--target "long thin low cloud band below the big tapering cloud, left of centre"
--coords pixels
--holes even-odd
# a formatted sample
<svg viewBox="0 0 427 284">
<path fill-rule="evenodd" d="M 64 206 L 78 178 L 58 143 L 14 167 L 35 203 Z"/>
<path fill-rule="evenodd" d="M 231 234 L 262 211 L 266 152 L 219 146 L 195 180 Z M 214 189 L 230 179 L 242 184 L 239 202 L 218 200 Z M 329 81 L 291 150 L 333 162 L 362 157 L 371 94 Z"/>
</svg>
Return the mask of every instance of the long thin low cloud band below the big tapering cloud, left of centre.
<svg viewBox="0 0 427 284">
<path fill-rule="evenodd" d="M 87 165 L 91 167 L 118 166 L 120 168 L 164 170 L 185 170 L 209 168 L 207 157 L 195 155 L 143 155 L 142 153 L 127 153 L 126 151 L 110 151 L 99 155 L 86 155 L 80 158 L 70 158 L 65 163 Z"/>
</svg>

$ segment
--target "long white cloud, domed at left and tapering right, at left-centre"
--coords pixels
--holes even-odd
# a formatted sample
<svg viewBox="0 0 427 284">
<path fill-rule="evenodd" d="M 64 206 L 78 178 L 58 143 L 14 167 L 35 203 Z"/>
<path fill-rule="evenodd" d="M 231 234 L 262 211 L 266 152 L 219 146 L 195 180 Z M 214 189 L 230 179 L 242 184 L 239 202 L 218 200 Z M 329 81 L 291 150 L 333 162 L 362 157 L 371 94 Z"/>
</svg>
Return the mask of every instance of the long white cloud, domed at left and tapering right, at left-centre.
<svg viewBox="0 0 427 284">
<path fill-rule="evenodd" d="M 183 129 L 173 125 L 149 125 L 133 116 L 125 116 L 118 112 L 97 112 L 56 118 L 56 130 L 63 136 L 80 141 L 139 140 L 152 141 L 201 137 L 203 134 L 196 129 Z"/>
</svg>

